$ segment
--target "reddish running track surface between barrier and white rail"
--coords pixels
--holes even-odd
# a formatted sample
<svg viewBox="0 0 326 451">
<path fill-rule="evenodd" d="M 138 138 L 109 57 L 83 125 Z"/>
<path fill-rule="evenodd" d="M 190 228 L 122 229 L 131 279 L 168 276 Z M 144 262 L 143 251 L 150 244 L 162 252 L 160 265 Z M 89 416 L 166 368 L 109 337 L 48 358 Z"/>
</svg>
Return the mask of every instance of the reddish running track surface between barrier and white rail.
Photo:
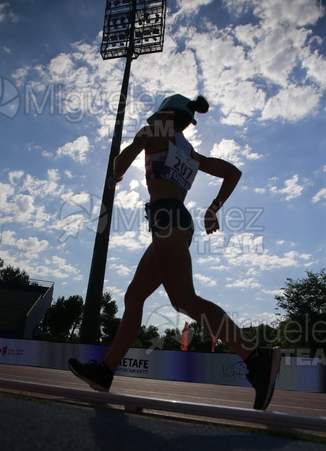
<svg viewBox="0 0 326 451">
<path fill-rule="evenodd" d="M 0 379 L 91 390 L 85 382 L 75 377 L 70 371 L 64 370 L 0 364 Z M 247 387 L 160 381 L 126 376 L 115 376 L 110 392 L 243 408 L 252 408 L 254 399 L 254 390 Z M 275 390 L 268 410 L 292 415 L 326 417 L 326 394 Z M 169 413 L 169 416 L 180 417 L 180 414 Z M 182 415 L 182 417 L 185 416 L 191 415 Z M 216 418 L 206 418 L 205 420 L 222 421 Z M 224 424 L 240 424 L 231 420 L 222 422 Z M 257 426 L 260 425 L 257 424 Z M 326 437 L 326 430 L 315 433 Z"/>
</svg>

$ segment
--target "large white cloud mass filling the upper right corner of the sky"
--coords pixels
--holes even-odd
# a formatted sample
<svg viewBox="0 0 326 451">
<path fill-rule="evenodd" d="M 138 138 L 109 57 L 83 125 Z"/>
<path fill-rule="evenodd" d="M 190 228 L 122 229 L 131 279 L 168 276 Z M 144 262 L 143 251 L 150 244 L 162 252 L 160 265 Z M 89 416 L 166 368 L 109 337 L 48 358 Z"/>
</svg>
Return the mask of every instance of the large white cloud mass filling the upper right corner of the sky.
<svg viewBox="0 0 326 451">
<path fill-rule="evenodd" d="M 311 31 L 306 27 L 322 16 L 321 4 L 312 0 L 224 3 L 233 14 L 255 7 L 258 25 L 218 30 L 207 24 L 209 33 L 195 30 L 192 38 L 189 31 L 187 35 L 187 46 L 200 61 L 208 96 L 220 104 L 221 122 L 241 126 L 260 112 L 262 120 L 294 122 L 314 112 L 322 96 L 319 88 L 326 84 L 326 60 L 317 51 L 311 53 Z M 294 69 L 300 65 L 315 86 L 297 78 Z"/>
</svg>

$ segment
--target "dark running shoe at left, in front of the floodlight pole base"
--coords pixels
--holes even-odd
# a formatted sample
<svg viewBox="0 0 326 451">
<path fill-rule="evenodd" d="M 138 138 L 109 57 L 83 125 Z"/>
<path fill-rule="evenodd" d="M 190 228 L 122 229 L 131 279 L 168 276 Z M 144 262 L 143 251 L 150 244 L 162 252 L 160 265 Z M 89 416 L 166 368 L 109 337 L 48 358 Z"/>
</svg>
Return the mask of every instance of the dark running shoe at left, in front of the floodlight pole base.
<svg viewBox="0 0 326 451">
<path fill-rule="evenodd" d="M 68 366 L 75 376 L 87 382 L 94 390 L 109 391 L 114 373 L 104 363 L 97 363 L 94 359 L 87 363 L 69 359 Z"/>
</svg>

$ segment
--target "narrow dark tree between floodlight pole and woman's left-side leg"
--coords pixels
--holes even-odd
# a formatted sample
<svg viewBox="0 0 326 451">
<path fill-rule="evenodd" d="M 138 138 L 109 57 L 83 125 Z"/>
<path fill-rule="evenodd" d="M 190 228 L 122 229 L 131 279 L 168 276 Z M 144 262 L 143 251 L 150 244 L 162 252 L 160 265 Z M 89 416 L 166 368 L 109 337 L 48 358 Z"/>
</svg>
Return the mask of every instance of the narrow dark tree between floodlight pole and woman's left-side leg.
<svg viewBox="0 0 326 451">
<path fill-rule="evenodd" d="M 102 344 L 110 345 L 115 337 L 121 318 L 116 318 L 118 306 L 111 299 L 110 293 L 103 293 L 100 314 L 100 340 Z"/>
</svg>

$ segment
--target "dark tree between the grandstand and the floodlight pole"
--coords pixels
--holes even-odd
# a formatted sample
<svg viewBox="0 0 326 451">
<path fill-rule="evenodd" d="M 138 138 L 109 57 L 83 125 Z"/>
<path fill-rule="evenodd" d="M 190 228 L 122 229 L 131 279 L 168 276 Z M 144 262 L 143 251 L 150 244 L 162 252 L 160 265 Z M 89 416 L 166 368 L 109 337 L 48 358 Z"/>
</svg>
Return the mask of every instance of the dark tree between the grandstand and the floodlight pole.
<svg viewBox="0 0 326 451">
<path fill-rule="evenodd" d="M 78 341 L 77 329 L 83 316 L 83 298 L 79 295 L 59 296 L 51 306 L 48 318 L 47 336 L 52 340 L 70 343 Z"/>
</svg>

